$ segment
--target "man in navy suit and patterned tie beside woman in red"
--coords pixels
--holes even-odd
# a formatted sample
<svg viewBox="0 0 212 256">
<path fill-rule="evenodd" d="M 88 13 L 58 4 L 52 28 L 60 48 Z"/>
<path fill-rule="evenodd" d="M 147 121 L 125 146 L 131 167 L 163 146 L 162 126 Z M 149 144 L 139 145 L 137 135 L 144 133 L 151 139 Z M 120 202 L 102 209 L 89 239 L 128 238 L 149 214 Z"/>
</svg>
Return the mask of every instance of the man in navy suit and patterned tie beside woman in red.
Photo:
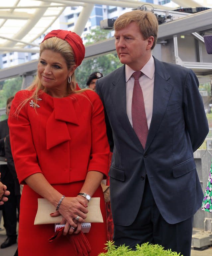
<svg viewBox="0 0 212 256">
<path fill-rule="evenodd" d="M 124 65 L 96 81 L 113 152 L 114 241 L 133 249 L 158 243 L 189 256 L 193 215 L 203 198 L 193 152 L 209 131 L 199 83 L 192 70 L 152 56 L 158 33 L 154 13 L 124 13 L 114 29 Z M 138 81 L 135 71 L 142 75 Z M 142 94 L 134 94 L 135 86 L 142 88 L 143 100 L 135 100 Z M 145 110 L 135 114 L 139 102 Z"/>
</svg>

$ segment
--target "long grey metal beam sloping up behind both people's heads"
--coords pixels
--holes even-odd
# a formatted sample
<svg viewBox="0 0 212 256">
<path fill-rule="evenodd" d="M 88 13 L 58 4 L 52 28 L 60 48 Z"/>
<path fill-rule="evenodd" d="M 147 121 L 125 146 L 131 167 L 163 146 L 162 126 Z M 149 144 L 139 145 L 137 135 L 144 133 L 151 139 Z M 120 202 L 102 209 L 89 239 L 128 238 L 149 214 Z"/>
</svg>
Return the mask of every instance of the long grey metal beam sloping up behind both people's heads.
<svg viewBox="0 0 212 256">
<path fill-rule="evenodd" d="M 169 13 L 171 13 L 171 11 L 169 11 Z M 182 18 L 161 24 L 159 25 L 158 41 L 163 42 L 164 40 L 173 38 L 179 34 L 191 33 L 199 41 L 203 42 L 203 37 L 197 32 L 212 29 L 211 17 L 212 9 L 209 9 L 199 13 L 185 15 Z M 112 37 L 110 39 L 85 46 L 85 59 L 114 53 L 115 51 L 115 39 Z M 37 62 L 38 60 L 29 61 L 24 64 L 0 70 L 0 81 L 16 76 L 24 76 L 26 79 L 33 76 L 37 70 Z M 212 63 L 184 62 L 183 65 L 194 69 L 195 72 L 200 75 L 203 73 L 202 70 L 212 74 Z M 25 82 L 27 83 L 27 81 Z"/>
</svg>

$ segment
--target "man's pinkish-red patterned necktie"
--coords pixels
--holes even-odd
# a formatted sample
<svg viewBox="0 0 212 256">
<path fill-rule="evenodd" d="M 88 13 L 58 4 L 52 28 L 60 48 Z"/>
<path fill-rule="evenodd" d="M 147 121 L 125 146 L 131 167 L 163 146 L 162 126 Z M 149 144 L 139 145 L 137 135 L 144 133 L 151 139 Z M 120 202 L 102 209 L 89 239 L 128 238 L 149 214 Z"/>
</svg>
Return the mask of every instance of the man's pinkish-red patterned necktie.
<svg viewBox="0 0 212 256">
<path fill-rule="evenodd" d="M 133 129 L 138 136 L 143 148 L 145 148 L 149 129 L 147 125 L 143 92 L 138 80 L 142 75 L 143 73 L 141 71 L 135 71 L 132 74 L 135 79 L 132 99 L 132 121 Z"/>
</svg>

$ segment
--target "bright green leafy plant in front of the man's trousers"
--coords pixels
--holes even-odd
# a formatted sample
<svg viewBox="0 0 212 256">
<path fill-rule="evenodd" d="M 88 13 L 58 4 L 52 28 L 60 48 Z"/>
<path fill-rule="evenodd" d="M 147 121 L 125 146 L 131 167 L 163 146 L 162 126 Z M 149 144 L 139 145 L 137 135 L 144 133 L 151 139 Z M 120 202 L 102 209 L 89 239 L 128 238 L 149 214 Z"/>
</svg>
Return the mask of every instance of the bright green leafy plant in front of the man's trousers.
<svg viewBox="0 0 212 256">
<path fill-rule="evenodd" d="M 172 252 L 171 249 L 164 250 L 164 247 L 149 242 L 142 245 L 137 244 L 136 250 L 132 251 L 129 246 L 114 245 L 114 241 L 108 241 L 104 248 L 107 252 L 102 252 L 98 256 L 183 256 L 180 253 Z"/>
</svg>

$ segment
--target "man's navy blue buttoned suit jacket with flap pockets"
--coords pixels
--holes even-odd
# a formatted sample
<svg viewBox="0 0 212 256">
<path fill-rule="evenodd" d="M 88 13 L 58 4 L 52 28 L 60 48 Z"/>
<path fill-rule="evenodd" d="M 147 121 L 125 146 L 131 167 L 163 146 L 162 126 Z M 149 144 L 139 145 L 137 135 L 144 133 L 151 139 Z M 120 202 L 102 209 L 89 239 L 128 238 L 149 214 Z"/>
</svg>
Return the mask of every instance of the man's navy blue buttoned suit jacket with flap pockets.
<svg viewBox="0 0 212 256">
<path fill-rule="evenodd" d="M 154 61 L 153 115 L 145 149 L 126 112 L 125 65 L 96 81 L 113 152 L 109 176 L 116 225 L 135 220 L 146 174 L 158 209 L 170 224 L 193 216 L 203 199 L 193 152 L 209 128 L 197 77 L 190 69 Z"/>
</svg>

